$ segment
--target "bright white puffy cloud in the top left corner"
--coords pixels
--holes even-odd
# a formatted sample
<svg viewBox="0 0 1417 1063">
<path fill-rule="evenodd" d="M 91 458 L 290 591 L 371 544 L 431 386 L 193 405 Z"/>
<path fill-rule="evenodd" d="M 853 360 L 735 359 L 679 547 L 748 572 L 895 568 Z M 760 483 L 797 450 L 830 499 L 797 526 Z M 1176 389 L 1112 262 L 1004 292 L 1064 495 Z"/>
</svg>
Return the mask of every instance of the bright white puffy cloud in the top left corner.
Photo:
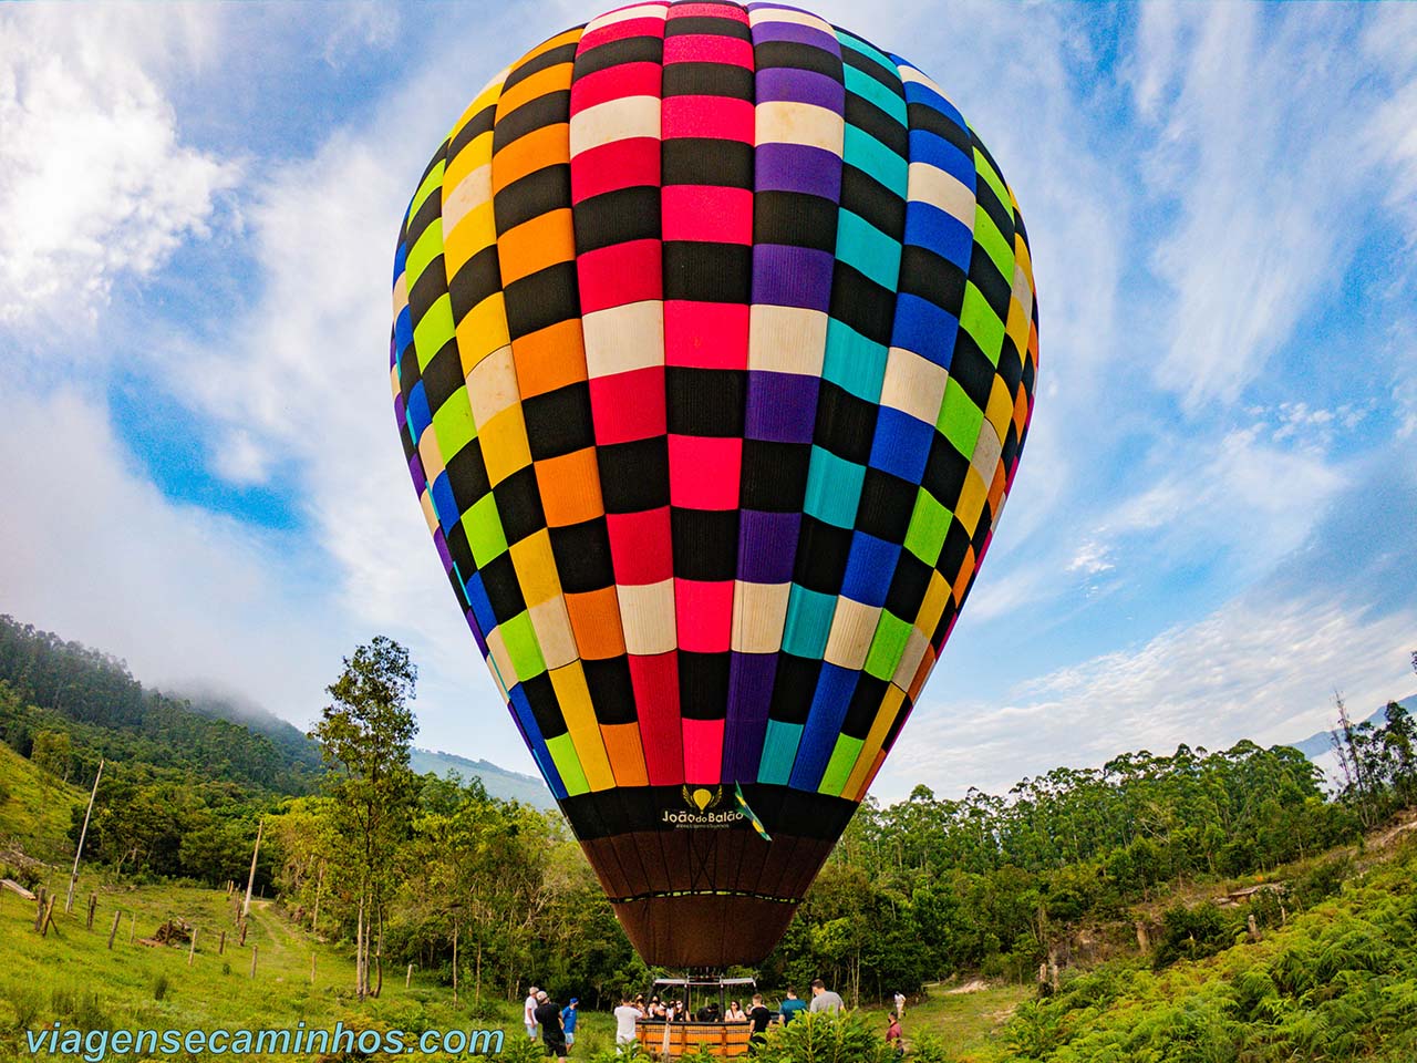
<svg viewBox="0 0 1417 1063">
<path fill-rule="evenodd" d="M 200 41 L 180 14 L 0 13 L 0 322 L 91 316 L 125 275 L 208 232 L 239 176 L 181 143 L 145 68 Z"/>
</svg>

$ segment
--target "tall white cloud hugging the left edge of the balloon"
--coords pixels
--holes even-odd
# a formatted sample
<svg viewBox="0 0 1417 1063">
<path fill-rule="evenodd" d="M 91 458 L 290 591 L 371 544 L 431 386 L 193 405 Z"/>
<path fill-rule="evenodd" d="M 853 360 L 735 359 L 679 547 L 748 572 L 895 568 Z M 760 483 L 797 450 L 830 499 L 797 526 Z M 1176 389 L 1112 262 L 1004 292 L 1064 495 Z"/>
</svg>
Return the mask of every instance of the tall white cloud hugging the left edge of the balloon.
<svg viewBox="0 0 1417 1063">
<path fill-rule="evenodd" d="M 476 52 L 465 50 L 465 61 L 476 68 Z M 465 95 L 431 69 L 312 159 L 271 169 L 245 210 L 258 298 L 222 329 L 231 340 L 162 357 L 174 390 L 218 427 L 218 475 L 251 483 L 279 472 L 299 486 L 332 608 L 360 639 L 383 632 L 410 646 L 422 669 L 424 741 L 524 770 L 529 755 L 424 524 L 388 384 L 401 214 Z"/>
</svg>

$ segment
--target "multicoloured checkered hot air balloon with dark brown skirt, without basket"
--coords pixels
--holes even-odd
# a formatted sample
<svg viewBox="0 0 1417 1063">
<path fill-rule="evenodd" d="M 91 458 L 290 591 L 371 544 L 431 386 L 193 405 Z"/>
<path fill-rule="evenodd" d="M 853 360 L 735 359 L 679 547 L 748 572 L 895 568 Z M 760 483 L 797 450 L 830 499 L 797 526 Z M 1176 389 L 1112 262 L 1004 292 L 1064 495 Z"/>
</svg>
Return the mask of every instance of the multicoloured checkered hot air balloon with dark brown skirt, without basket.
<svg viewBox="0 0 1417 1063">
<path fill-rule="evenodd" d="M 408 206 L 391 384 L 512 716 L 649 964 L 757 964 L 989 549 L 1037 303 L 905 60 L 795 7 L 537 45 Z"/>
</svg>

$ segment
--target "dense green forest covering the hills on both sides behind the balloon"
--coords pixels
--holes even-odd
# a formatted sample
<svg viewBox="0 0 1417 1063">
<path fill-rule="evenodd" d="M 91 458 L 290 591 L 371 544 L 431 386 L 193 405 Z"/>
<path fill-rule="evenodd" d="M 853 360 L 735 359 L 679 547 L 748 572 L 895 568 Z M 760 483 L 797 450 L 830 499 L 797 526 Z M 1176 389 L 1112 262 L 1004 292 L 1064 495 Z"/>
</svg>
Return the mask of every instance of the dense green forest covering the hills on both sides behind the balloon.
<svg viewBox="0 0 1417 1063">
<path fill-rule="evenodd" d="M 492 798 L 476 780 L 410 770 L 415 680 L 397 643 L 360 646 L 312 730 L 323 755 L 313 765 L 145 690 L 122 662 L 0 624 L 4 740 L 79 787 L 108 758 L 85 859 L 133 882 L 244 882 L 264 822 L 255 889 L 292 921 L 347 944 L 360 998 L 377 996 L 407 964 L 456 978 L 475 1016 L 520 999 L 531 972 L 591 1009 L 643 988 L 653 972 L 557 812 Z M 1241 741 L 1056 768 L 1006 794 L 945 799 L 917 787 L 898 804 L 867 799 L 755 972 L 760 985 L 822 977 L 849 1003 L 866 1003 L 962 977 L 1036 982 L 1037 1003 L 1009 1023 L 1019 1057 L 1141 1059 L 1100 1047 L 1114 1035 L 1105 1043 L 1122 1043 L 1125 1030 L 1108 1035 L 1094 1019 L 1168 978 L 1195 981 L 1173 968 L 1332 903 L 1356 873 L 1335 848 L 1360 843 L 1417 802 L 1417 727 L 1406 709 L 1391 703 L 1384 720 L 1353 724 L 1339 703 L 1336 716 L 1338 792 L 1298 750 Z M 77 811 L 71 840 L 79 821 Z M 1234 880 L 1272 886 L 1227 907 L 1195 903 L 1199 887 L 1214 893 L 1210 884 Z M 1244 1016 L 1261 1016 L 1287 1030 L 1274 1043 L 1308 1036 L 1299 1002 L 1333 979 L 1333 955 L 1372 971 L 1411 962 L 1411 896 L 1383 904 L 1369 921 L 1353 916 L 1362 926 L 1338 938 L 1315 924 L 1308 951 L 1255 960 L 1227 981 L 1227 1002 L 1204 1006 L 1229 1016 L 1231 1033 Z M 1367 1008 L 1379 1022 L 1389 1005 L 1377 994 L 1343 1006 Z M 1367 1033 L 1353 1036 L 1370 1035 L 1359 1026 Z M 1246 1056 L 1281 1057 L 1345 1056 Z"/>
</svg>

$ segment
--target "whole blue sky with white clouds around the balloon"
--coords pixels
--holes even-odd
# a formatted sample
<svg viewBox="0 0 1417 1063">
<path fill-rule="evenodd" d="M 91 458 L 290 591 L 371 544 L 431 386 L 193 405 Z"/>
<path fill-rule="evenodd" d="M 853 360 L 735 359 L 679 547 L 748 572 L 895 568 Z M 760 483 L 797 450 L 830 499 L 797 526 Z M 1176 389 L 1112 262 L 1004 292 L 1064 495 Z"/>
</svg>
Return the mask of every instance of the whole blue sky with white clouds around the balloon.
<svg viewBox="0 0 1417 1063">
<path fill-rule="evenodd" d="M 873 792 L 1268 744 L 1417 692 L 1417 6 L 816 3 L 989 145 L 1033 427 Z M 299 726 L 376 634 L 418 744 L 534 772 L 388 395 L 401 213 L 601 9 L 0 7 L 0 612 Z"/>
</svg>

